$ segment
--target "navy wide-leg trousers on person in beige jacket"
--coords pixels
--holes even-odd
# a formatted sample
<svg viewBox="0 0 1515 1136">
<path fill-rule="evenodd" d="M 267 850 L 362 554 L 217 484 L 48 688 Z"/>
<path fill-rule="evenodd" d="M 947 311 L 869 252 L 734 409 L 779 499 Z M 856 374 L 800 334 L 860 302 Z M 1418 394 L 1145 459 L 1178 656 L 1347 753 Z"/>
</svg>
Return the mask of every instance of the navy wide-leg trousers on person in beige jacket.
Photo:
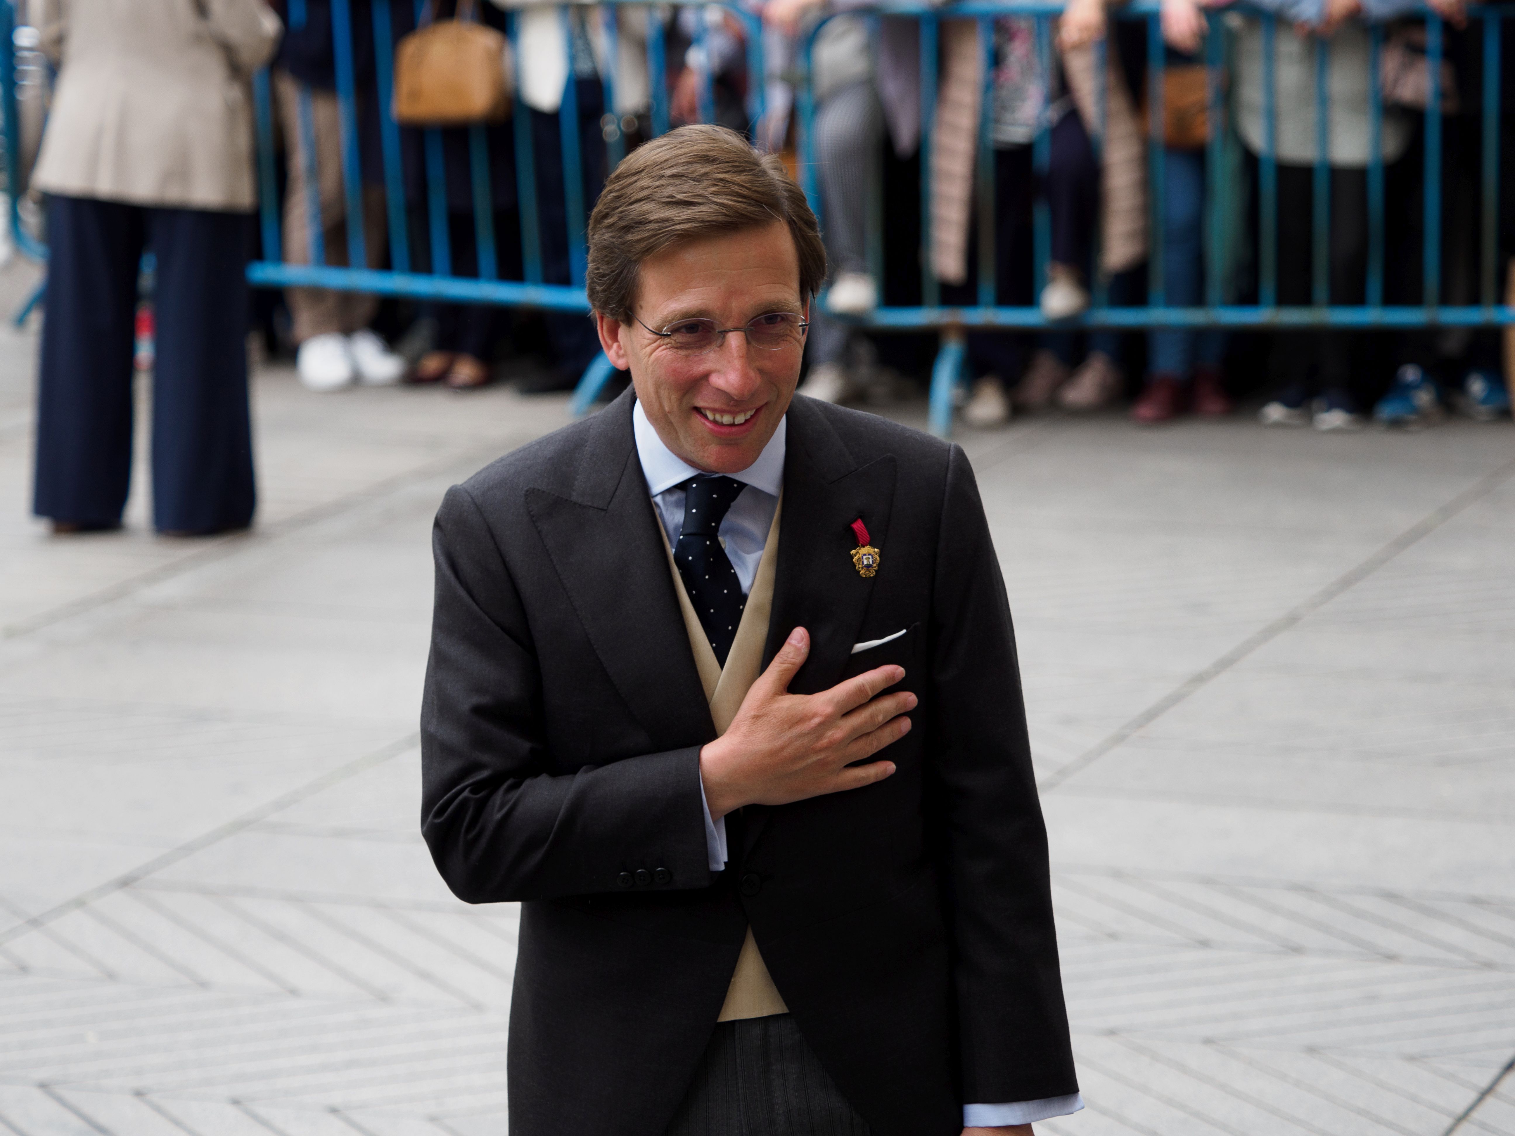
<svg viewBox="0 0 1515 1136">
<path fill-rule="evenodd" d="M 136 274 L 156 254 L 153 524 L 253 518 L 247 404 L 247 214 L 50 197 L 33 512 L 114 526 L 132 474 Z"/>
</svg>

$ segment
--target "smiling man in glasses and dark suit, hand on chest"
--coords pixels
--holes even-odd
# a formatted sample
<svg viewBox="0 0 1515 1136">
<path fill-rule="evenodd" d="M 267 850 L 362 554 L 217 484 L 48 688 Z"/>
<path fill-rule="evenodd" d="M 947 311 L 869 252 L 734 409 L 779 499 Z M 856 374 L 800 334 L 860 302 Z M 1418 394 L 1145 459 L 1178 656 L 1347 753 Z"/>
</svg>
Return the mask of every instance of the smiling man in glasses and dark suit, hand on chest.
<svg viewBox="0 0 1515 1136">
<path fill-rule="evenodd" d="M 973 473 L 794 397 L 824 264 L 777 159 L 641 147 L 588 276 L 635 391 L 438 513 L 423 830 L 461 898 L 523 901 L 512 1136 L 1082 1107 Z"/>
</svg>

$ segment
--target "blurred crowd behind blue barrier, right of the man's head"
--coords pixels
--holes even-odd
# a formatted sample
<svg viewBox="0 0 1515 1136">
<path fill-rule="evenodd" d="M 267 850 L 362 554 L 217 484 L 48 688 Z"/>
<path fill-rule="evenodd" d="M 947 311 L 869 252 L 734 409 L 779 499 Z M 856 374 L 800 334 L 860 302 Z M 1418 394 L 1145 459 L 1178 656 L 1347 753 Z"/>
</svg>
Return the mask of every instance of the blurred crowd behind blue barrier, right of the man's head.
<svg viewBox="0 0 1515 1136">
<path fill-rule="evenodd" d="M 773 0 L 798 26 L 827 0 Z M 830 0 L 835 12 L 845 0 Z M 1480 138 L 1483 115 L 1483 27 L 1465 18 L 1460 0 L 1436 0 L 1447 20 L 1442 109 L 1442 220 L 1439 301 L 1479 303 L 1486 235 L 1480 229 Z M 1383 161 L 1383 262 L 1374 271 L 1389 304 L 1424 301 L 1424 118 L 1429 100 L 1426 26 L 1410 0 L 1256 0 L 1254 9 L 1280 18 L 1274 45 L 1274 217 L 1259 201 L 1265 136 L 1265 32 L 1256 15 L 1220 23 L 1226 42 L 1220 74 L 1206 67 L 1210 17 L 1200 0 L 1164 0 L 1162 121 L 1148 121 L 1151 85 L 1147 26 L 1109 20 L 1104 0 L 1070 0 L 1041 51 L 1030 17 L 994 21 L 989 58 L 991 139 L 995 173 L 992 245 L 979 239 L 983 201 L 976 200 L 976 138 L 980 135 L 980 67 L 986 51 L 971 21 L 941 26 L 936 121 L 932 124 L 932 220 L 929 247 L 911 218 L 920 209 L 920 83 L 917 24 L 885 18 L 873 35 L 854 14 L 833 15 L 814 50 L 818 100 L 815 145 L 824 229 L 833 261 L 827 309 L 817 318 L 804 391 L 830 400 L 880 397 L 891 379 L 877 351 L 847 326 L 879 303 L 920 303 L 917 248 L 941 282 L 944 304 L 977 304 L 979 256 L 995 257 L 995 301 L 1041 306 L 1053 330 L 970 332 L 971 397 L 964 407 L 976 426 L 1006 421 L 1014 409 L 1094 410 L 1130 398 L 1138 423 L 1183 414 L 1227 415 L 1239 391 L 1260 391 L 1260 421 L 1351 430 L 1368 421 L 1423 426 L 1445 409 L 1494 420 L 1509 414 L 1510 350 L 1489 329 L 1359 332 L 1300 329 L 1224 333 L 1220 329 L 1164 327 L 1145 333 L 1109 329 L 1079 335 L 1056 324 L 1085 312 L 1098 291 L 1115 307 L 1145 304 L 1162 288 L 1168 306 L 1268 303 L 1262 261 L 1273 230 L 1273 300 L 1310 306 L 1370 301 L 1370 151 L 1374 139 L 1370 85 L 1370 24 L 1386 24 L 1380 76 Z M 770 17 L 771 18 L 771 17 Z M 1104 50 L 1097 51 L 1097 41 Z M 1327 50 L 1329 161 L 1324 280 L 1314 264 L 1315 159 L 1321 144 L 1315 111 L 1317 53 Z M 1097 73 L 1098 59 L 1106 73 Z M 1050 59 L 1050 67 L 1047 61 Z M 1498 89 L 1506 115 L 1515 109 L 1509 36 L 1501 45 Z M 1227 121 L 1210 145 L 1209 85 L 1226 91 Z M 1050 126 L 1050 153 L 1033 171 L 1033 139 Z M 877 265 L 870 273 L 864 221 L 870 211 L 865 171 L 883 154 L 883 295 Z M 1515 133 L 1500 130 L 1498 161 L 1512 168 Z M 1160 145 L 1162 200 L 1153 209 L 1150 147 Z M 1215 154 L 1221 170 L 1212 170 Z M 1217 180 L 1230 192 L 1218 232 L 1204 232 L 1206 198 Z M 1042 280 L 1032 271 L 1032 217 L 1045 203 L 1050 250 Z M 1515 251 L 1515 189 L 1500 179 L 1497 301 L 1515 300 L 1509 256 Z M 1153 233 L 1150 218 L 1160 212 Z M 1215 244 L 1220 247 L 1215 247 Z M 877 253 L 874 253 L 877 261 Z M 897 351 L 895 351 L 897 354 Z M 1504 359 L 1501 359 L 1501 354 Z M 883 394 L 882 397 L 888 397 Z"/>
</svg>

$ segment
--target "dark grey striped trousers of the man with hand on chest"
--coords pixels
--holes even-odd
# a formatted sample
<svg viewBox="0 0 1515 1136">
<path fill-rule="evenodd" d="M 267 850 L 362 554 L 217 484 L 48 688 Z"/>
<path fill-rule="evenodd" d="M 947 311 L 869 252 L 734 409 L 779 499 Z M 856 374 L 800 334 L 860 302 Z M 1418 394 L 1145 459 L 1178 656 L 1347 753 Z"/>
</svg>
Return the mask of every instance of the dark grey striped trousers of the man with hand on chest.
<svg viewBox="0 0 1515 1136">
<path fill-rule="evenodd" d="M 788 1013 L 723 1021 L 667 1136 L 868 1136 Z"/>
</svg>

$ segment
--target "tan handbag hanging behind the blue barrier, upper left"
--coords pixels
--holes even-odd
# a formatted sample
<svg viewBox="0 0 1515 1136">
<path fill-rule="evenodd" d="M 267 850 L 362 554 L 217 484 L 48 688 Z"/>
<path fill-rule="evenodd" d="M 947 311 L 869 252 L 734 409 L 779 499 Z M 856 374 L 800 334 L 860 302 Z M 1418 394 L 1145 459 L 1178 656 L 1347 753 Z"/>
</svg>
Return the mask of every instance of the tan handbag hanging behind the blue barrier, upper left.
<svg viewBox="0 0 1515 1136">
<path fill-rule="evenodd" d="M 454 20 L 433 20 L 429 0 L 420 27 L 394 48 L 394 120 L 403 126 L 503 123 L 511 115 L 506 39 L 476 21 L 476 0 L 458 0 Z"/>
</svg>

